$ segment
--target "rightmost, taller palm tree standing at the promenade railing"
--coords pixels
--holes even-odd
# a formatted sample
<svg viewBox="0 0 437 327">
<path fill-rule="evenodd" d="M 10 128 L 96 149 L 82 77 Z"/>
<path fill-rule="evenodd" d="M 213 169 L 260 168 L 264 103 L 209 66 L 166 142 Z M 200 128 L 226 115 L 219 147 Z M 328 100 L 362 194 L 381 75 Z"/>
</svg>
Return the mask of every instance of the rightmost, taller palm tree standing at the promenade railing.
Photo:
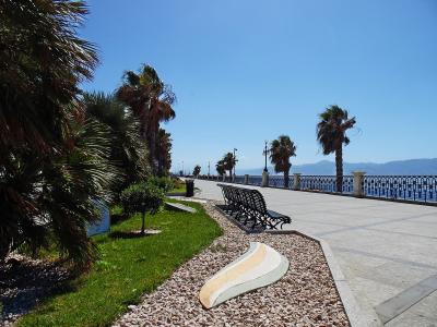
<svg viewBox="0 0 437 327">
<path fill-rule="evenodd" d="M 335 153 L 336 192 L 343 191 L 343 143 L 350 144 L 346 131 L 352 129 L 355 122 L 355 117 L 349 118 L 347 110 L 334 105 L 320 113 L 320 122 L 317 124 L 317 140 L 323 155 Z"/>
</svg>

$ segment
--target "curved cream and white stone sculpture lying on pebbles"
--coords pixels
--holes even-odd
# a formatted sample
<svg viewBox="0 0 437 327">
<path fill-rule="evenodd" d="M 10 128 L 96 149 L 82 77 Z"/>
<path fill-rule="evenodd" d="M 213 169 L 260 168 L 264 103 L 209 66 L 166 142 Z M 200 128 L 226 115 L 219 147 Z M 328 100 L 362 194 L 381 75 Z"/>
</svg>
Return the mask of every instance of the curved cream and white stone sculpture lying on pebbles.
<svg viewBox="0 0 437 327">
<path fill-rule="evenodd" d="M 211 277 L 199 299 L 205 308 L 271 284 L 288 270 L 288 259 L 264 243 L 250 242 L 249 250 Z"/>
</svg>

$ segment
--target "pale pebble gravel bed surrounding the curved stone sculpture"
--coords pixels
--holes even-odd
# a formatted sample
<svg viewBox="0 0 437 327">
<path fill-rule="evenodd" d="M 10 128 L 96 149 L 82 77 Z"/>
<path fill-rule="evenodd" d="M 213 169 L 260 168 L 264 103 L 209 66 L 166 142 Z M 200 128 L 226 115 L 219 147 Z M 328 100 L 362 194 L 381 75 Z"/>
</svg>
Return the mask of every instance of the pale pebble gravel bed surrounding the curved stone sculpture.
<svg viewBox="0 0 437 327">
<path fill-rule="evenodd" d="M 350 326 L 317 242 L 297 234 L 246 234 L 205 205 L 224 235 L 179 267 L 142 303 L 129 306 L 114 326 Z M 247 251 L 250 241 L 269 244 L 290 261 L 277 282 L 211 310 L 199 302 L 206 279 Z"/>
</svg>

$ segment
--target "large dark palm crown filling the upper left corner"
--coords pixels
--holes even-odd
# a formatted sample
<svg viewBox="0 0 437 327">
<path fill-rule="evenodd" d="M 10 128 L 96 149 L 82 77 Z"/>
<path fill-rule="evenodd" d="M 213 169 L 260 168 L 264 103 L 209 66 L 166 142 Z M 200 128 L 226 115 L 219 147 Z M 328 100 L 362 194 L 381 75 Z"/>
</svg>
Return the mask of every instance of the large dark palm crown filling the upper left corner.
<svg viewBox="0 0 437 327">
<path fill-rule="evenodd" d="M 75 33 L 86 13 L 83 1 L 1 2 L 1 149 L 47 155 L 62 147 L 69 117 L 78 114 L 70 106 L 78 83 L 97 64 L 95 47 Z"/>
</svg>

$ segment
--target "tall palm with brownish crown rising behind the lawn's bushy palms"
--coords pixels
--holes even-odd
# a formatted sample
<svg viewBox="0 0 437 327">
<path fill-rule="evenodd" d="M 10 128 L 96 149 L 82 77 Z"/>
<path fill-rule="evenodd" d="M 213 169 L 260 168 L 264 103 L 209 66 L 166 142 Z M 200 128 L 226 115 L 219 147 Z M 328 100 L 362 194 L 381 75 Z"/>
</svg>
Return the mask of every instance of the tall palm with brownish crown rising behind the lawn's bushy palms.
<svg viewBox="0 0 437 327">
<path fill-rule="evenodd" d="M 175 118 L 172 107 L 176 101 L 175 94 L 152 66 L 144 64 L 138 74 L 132 71 L 125 73 L 123 85 L 117 90 L 117 97 L 140 118 L 141 133 L 147 140 L 150 160 L 156 171 L 160 123 Z"/>
</svg>

